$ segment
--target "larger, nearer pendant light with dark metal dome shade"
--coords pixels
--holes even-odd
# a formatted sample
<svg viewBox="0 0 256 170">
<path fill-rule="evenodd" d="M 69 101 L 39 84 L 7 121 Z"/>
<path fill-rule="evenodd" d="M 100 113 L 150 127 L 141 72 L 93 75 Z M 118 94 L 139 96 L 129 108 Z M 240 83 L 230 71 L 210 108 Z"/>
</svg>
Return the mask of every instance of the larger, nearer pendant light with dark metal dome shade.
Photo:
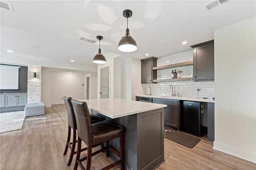
<svg viewBox="0 0 256 170">
<path fill-rule="evenodd" d="M 124 37 L 118 43 L 118 50 L 123 52 L 132 52 L 137 49 L 136 41 L 130 36 L 129 29 L 128 29 L 128 18 L 132 16 L 131 10 L 124 10 L 123 16 L 127 18 L 127 28 Z"/>
</svg>

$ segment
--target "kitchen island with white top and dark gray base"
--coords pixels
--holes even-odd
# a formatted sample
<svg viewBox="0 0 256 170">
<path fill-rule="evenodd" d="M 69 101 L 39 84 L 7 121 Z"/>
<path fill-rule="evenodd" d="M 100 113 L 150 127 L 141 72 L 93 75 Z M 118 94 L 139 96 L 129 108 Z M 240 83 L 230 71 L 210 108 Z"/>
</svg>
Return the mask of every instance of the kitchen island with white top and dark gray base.
<svg viewBox="0 0 256 170">
<path fill-rule="evenodd" d="M 128 170 L 152 170 L 164 162 L 164 107 L 117 98 L 80 100 L 98 114 L 126 128 L 125 167 Z M 119 150 L 119 139 L 110 141 Z M 110 156 L 117 160 L 112 153 Z"/>
</svg>

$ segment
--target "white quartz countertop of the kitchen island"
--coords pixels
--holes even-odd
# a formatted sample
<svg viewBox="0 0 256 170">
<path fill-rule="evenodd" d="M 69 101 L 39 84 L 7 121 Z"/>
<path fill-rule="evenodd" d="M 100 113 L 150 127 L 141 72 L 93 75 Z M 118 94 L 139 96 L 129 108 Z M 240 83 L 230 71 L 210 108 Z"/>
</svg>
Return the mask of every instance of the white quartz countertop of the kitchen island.
<svg viewBox="0 0 256 170">
<path fill-rule="evenodd" d="M 79 101 L 86 102 L 89 109 L 92 109 L 112 119 L 167 107 L 165 104 L 138 102 L 134 100 L 118 98 L 90 99 Z"/>
</svg>

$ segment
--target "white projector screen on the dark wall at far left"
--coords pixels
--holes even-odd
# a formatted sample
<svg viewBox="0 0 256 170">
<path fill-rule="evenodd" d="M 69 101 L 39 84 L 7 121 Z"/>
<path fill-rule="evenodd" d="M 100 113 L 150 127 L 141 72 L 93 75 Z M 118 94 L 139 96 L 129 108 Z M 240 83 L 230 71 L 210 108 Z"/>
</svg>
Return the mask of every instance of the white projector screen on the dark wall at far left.
<svg viewBox="0 0 256 170">
<path fill-rule="evenodd" d="M 19 90 L 20 66 L 0 65 L 0 89 Z"/>
</svg>

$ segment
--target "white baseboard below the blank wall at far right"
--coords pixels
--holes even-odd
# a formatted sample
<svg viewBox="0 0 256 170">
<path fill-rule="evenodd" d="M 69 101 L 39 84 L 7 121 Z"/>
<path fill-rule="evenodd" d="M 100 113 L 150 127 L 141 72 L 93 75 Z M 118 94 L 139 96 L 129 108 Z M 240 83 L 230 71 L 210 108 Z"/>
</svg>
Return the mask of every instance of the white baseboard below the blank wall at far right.
<svg viewBox="0 0 256 170">
<path fill-rule="evenodd" d="M 256 163 L 256 153 L 253 152 L 233 148 L 228 145 L 217 143 L 216 141 L 213 142 L 213 149 Z"/>
</svg>

